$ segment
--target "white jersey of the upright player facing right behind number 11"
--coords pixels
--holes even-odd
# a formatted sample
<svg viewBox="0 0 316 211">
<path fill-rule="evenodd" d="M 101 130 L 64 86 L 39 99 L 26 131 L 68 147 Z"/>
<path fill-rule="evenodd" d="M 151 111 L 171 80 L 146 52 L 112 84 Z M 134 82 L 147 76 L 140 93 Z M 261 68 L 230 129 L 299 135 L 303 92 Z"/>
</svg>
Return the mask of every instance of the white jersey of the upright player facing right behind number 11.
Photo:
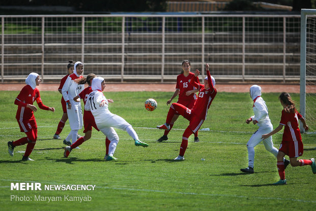
<svg viewBox="0 0 316 211">
<path fill-rule="evenodd" d="M 74 74 L 68 76 L 65 84 L 62 88 L 62 93 L 65 101 L 73 100 L 74 97 L 79 95 L 79 93 L 84 90 L 84 84 L 77 84 L 74 79 L 77 77 Z"/>
</svg>

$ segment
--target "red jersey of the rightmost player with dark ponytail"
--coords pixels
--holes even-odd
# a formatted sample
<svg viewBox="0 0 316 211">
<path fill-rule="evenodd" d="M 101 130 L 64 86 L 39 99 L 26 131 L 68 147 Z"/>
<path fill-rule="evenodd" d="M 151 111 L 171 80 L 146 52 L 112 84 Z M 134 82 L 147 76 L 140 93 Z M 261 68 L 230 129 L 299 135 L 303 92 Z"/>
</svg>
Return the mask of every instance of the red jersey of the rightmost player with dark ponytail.
<svg viewBox="0 0 316 211">
<path fill-rule="evenodd" d="M 295 110 L 295 113 L 287 113 L 282 110 L 280 125 L 285 126 L 282 140 L 302 140 L 299 129 L 300 119 L 302 119 L 302 115 L 297 110 Z"/>
</svg>

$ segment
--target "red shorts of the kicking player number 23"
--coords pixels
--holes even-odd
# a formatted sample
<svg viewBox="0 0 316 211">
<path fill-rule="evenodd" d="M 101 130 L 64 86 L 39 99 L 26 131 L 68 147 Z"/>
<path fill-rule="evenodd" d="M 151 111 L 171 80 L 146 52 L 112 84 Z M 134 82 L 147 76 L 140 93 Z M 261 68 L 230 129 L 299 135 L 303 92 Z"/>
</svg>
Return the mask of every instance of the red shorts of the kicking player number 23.
<svg viewBox="0 0 316 211">
<path fill-rule="evenodd" d="M 201 125 L 203 124 L 204 120 L 200 119 L 198 116 L 192 113 L 192 110 L 183 106 L 181 104 L 173 103 L 172 106 L 174 107 L 175 111 L 177 111 L 180 115 L 190 121 L 189 128 L 196 133 Z"/>
</svg>

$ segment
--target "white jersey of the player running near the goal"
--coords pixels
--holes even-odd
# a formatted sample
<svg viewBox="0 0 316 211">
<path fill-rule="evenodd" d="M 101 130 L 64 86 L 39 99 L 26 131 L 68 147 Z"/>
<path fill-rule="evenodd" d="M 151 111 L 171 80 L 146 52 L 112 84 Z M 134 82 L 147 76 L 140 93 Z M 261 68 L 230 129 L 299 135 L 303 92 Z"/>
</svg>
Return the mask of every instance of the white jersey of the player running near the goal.
<svg viewBox="0 0 316 211">
<path fill-rule="evenodd" d="M 271 120 L 269 118 L 268 107 L 266 102 L 261 97 L 258 97 L 253 103 L 253 112 L 254 115 L 251 116 L 251 119 L 256 120 L 259 127 L 272 127 Z"/>
</svg>

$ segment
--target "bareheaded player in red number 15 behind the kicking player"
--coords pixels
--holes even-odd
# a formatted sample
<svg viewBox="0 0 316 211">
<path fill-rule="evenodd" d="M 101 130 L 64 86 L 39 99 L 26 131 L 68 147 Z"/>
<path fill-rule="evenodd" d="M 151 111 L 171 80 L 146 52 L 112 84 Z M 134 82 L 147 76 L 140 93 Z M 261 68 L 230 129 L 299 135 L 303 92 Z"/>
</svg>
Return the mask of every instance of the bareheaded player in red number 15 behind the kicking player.
<svg viewBox="0 0 316 211">
<path fill-rule="evenodd" d="M 176 97 L 178 97 L 177 103 L 186 106 L 188 108 L 193 108 L 197 97 L 195 92 L 198 90 L 194 88 L 194 86 L 190 83 L 191 79 L 194 76 L 194 73 L 190 72 L 191 62 L 189 60 L 182 61 L 182 71 L 180 75 L 177 76 L 177 83 L 175 86 L 175 92 L 172 97 L 167 101 L 167 105 L 171 103 L 171 101 Z M 195 81 L 199 83 L 199 78 L 195 78 Z M 171 122 L 170 122 L 170 130 L 172 129 L 174 122 L 178 119 L 179 114 L 175 113 Z M 162 142 L 163 140 L 168 140 L 168 133 L 170 130 L 165 130 L 164 135 L 161 136 L 157 142 Z M 198 132 L 194 133 L 194 142 L 199 142 Z"/>
</svg>

